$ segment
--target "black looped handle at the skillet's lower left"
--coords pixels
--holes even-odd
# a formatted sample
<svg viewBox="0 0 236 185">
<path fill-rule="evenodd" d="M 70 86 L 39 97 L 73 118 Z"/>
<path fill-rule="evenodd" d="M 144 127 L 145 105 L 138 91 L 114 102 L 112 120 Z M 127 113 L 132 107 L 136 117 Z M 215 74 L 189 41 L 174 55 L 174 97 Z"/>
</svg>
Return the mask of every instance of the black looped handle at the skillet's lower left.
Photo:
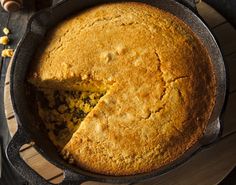
<svg viewBox="0 0 236 185">
<path fill-rule="evenodd" d="M 31 184 L 40 185 L 52 185 L 52 183 L 45 180 L 38 173 L 36 173 L 20 156 L 20 148 L 31 142 L 30 137 L 26 132 L 18 125 L 16 134 L 11 139 L 6 148 L 6 156 L 13 168 Z M 88 179 L 84 176 L 74 174 L 70 171 L 64 170 L 64 179 L 60 185 L 80 185 Z"/>
</svg>

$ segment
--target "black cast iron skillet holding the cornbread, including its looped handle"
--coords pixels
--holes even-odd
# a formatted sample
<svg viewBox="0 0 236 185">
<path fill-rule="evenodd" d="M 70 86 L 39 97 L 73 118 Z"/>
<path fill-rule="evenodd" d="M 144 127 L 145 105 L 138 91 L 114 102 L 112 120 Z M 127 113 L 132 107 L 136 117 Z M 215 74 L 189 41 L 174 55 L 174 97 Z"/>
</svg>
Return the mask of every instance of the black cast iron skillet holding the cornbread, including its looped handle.
<svg viewBox="0 0 236 185">
<path fill-rule="evenodd" d="M 13 136 L 6 150 L 7 156 L 14 168 L 32 184 L 48 185 L 50 184 L 36 172 L 34 172 L 21 159 L 19 149 L 22 145 L 33 141 L 35 148 L 48 161 L 61 168 L 64 171 L 64 180 L 60 184 L 81 184 L 84 181 L 100 181 L 109 183 L 134 183 L 144 179 L 161 175 L 177 165 L 183 163 L 188 158 L 198 152 L 203 146 L 206 146 L 219 137 L 220 121 L 219 115 L 224 103 L 226 91 L 226 76 L 225 67 L 221 52 L 217 43 L 204 25 L 204 23 L 188 8 L 173 0 L 136 0 L 145 2 L 152 6 L 171 12 L 186 24 L 188 24 L 195 34 L 202 41 L 214 66 L 214 72 L 217 80 L 217 96 L 216 104 L 211 115 L 209 125 L 202 139 L 189 149 L 182 157 L 175 160 L 173 163 L 152 171 L 130 176 L 106 176 L 85 171 L 78 167 L 69 165 L 61 159 L 54 145 L 50 142 L 44 130 L 38 126 L 37 118 L 33 108 L 29 105 L 29 94 L 26 85 L 27 68 L 32 60 L 39 43 L 43 41 L 46 31 L 60 22 L 65 17 L 74 12 L 79 12 L 88 7 L 95 6 L 101 3 L 118 2 L 120 0 L 64 0 L 56 6 L 43 10 L 35 14 L 29 21 L 27 32 L 19 43 L 15 55 L 10 74 L 10 94 L 15 112 L 15 117 L 18 122 L 17 133 Z M 62 59 L 63 60 L 63 59 Z"/>
</svg>

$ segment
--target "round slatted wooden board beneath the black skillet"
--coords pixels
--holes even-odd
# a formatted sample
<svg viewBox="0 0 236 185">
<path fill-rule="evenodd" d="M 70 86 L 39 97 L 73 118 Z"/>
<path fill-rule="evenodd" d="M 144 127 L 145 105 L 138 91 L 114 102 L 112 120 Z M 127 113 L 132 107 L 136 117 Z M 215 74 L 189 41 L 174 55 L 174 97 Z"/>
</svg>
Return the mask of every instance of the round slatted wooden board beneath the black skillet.
<svg viewBox="0 0 236 185">
<path fill-rule="evenodd" d="M 220 182 L 235 167 L 236 31 L 220 14 L 205 3 L 198 4 L 198 10 L 219 41 L 227 65 L 227 73 L 230 77 L 230 94 L 222 116 L 224 123 L 222 139 L 213 146 L 202 150 L 189 161 L 167 174 L 151 181 L 137 183 L 137 185 L 172 185 L 173 183 L 175 185 L 214 185 Z M 6 76 L 5 84 L 6 117 L 10 132 L 13 135 L 17 128 L 9 98 L 9 75 Z M 43 159 L 29 144 L 22 147 L 20 155 L 29 166 L 52 183 L 58 183 L 63 179 L 62 171 Z M 84 183 L 84 185 L 95 184 L 103 183 Z"/>
</svg>

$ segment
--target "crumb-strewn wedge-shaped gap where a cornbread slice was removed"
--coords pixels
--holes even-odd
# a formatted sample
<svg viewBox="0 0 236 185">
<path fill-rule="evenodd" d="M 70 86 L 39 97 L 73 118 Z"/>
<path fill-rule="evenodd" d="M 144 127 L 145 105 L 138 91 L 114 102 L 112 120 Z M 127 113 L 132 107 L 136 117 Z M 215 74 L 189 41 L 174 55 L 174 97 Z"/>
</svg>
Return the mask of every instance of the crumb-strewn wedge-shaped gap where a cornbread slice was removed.
<svg viewBox="0 0 236 185">
<path fill-rule="evenodd" d="M 39 117 L 48 137 L 63 149 L 81 122 L 93 110 L 105 92 L 39 89 L 36 92 Z"/>
</svg>

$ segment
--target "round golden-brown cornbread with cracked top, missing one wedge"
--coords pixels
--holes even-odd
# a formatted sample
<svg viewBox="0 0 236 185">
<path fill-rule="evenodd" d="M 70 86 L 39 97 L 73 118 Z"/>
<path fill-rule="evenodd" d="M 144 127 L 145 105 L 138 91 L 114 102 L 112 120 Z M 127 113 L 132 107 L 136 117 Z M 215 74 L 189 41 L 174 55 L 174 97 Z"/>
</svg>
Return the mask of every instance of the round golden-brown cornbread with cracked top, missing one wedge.
<svg viewBox="0 0 236 185">
<path fill-rule="evenodd" d="M 59 150 L 82 169 L 117 176 L 158 169 L 186 152 L 203 135 L 216 93 L 210 58 L 191 29 L 131 2 L 57 25 L 28 81 L 44 91 L 102 94 Z"/>
</svg>

